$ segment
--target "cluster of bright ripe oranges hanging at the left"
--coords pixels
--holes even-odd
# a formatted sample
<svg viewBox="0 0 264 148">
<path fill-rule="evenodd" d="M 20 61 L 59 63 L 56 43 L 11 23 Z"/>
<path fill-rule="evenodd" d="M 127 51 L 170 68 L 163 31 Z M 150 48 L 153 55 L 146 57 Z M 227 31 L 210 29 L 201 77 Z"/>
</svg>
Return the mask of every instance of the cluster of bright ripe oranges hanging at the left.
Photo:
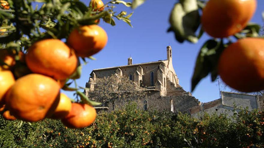
<svg viewBox="0 0 264 148">
<path fill-rule="evenodd" d="M 91 4 L 95 11 L 104 9 L 101 0 L 92 0 Z M 89 126 L 95 120 L 95 109 L 88 104 L 72 103 L 60 89 L 76 71 L 78 57 L 89 57 L 106 43 L 103 28 L 87 25 L 73 29 L 66 44 L 59 39 L 44 39 L 31 45 L 26 54 L 1 50 L 0 59 L 5 65 L 0 67 L 0 110 L 4 118 L 29 122 L 53 118 L 61 119 L 70 128 Z M 23 64 L 21 70 L 17 65 Z M 16 70 L 17 67 L 20 69 Z"/>
</svg>

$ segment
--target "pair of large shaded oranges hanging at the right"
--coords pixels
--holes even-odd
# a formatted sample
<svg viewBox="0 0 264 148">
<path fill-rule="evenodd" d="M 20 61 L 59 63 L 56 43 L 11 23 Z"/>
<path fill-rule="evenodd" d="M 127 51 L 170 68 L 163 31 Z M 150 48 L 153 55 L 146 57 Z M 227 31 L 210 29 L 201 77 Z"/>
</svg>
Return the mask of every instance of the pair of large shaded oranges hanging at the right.
<svg viewBox="0 0 264 148">
<path fill-rule="evenodd" d="M 244 29 L 256 10 L 256 0 L 209 0 L 202 28 L 214 38 Z M 230 87 L 244 92 L 264 89 L 264 39 L 247 37 L 229 45 L 220 55 L 218 74 Z"/>
</svg>

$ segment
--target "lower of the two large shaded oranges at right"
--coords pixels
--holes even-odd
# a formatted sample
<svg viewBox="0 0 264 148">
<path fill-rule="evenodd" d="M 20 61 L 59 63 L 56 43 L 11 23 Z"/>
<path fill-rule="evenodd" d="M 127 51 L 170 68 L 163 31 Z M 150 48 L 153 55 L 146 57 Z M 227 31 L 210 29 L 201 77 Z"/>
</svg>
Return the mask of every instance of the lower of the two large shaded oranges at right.
<svg viewBox="0 0 264 148">
<path fill-rule="evenodd" d="M 263 90 L 264 39 L 239 39 L 229 45 L 218 61 L 218 74 L 228 86 L 238 91 Z"/>
</svg>

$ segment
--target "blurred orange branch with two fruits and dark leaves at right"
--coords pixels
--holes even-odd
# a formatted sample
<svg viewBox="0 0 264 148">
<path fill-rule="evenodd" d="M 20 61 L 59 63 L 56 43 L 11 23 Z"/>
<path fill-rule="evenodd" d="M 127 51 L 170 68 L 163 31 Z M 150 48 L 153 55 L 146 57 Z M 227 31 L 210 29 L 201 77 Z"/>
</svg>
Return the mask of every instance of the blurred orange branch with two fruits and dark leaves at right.
<svg viewBox="0 0 264 148">
<path fill-rule="evenodd" d="M 132 8 L 144 1 L 133 0 Z M 196 43 L 203 32 L 212 37 L 197 56 L 192 91 L 208 74 L 212 81 L 219 74 L 238 91 L 264 89 L 263 33 L 259 34 L 258 24 L 249 22 L 256 6 L 257 0 L 179 0 L 174 5 L 168 31 L 175 33 L 178 42 Z"/>
</svg>

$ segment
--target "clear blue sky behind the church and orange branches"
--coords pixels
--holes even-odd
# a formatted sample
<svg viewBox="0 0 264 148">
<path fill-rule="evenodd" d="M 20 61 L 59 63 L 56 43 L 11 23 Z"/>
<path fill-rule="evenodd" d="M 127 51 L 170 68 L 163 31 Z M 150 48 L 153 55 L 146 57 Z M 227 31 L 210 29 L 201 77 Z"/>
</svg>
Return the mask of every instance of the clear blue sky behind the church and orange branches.
<svg viewBox="0 0 264 148">
<path fill-rule="evenodd" d="M 89 1 L 83 1 L 88 5 Z M 104 3 L 107 0 L 103 0 Z M 178 43 L 173 33 L 167 33 L 169 28 L 170 11 L 175 0 L 147 0 L 135 10 L 122 4 L 116 5 L 116 12 L 121 10 L 134 12 L 131 16 L 133 28 L 123 21 L 116 20 L 116 26 L 100 22 L 100 26 L 106 30 L 108 42 L 106 47 L 95 54 L 96 60 L 88 60 L 88 64 L 82 69 L 82 77 L 77 80 L 79 86 L 85 87 L 89 74 L 93 69 L 106 68 L 119 65 L 127 65 L 128 57 L 132 57 L 133 64 L 164 60 L 167 58 L 166 46 L 172 47 L 173 67 L 179 78 L 179 83 L 184 90 L 190 91 L 191 77 L 194 70 L 199 49 L 209 36 L 204 34 L 198 43 Z M 257 0 L 258 6 L 251 22 L 262 25 L 261 12 L 264 11 L 264 1 Z M 223 90 L 223 87 L 220 88 Z M 225 90 L 227 91 L 227 90 Z M 63 91 L 65 92 L 65 91 Z M 72 92 L 65 92 L 73 98 Z M 217 81 L 211 82 L 206 77 L 196 86 L 193 96 L 201 102 L 208 102 L 219 98 Z"/>
</svg>

